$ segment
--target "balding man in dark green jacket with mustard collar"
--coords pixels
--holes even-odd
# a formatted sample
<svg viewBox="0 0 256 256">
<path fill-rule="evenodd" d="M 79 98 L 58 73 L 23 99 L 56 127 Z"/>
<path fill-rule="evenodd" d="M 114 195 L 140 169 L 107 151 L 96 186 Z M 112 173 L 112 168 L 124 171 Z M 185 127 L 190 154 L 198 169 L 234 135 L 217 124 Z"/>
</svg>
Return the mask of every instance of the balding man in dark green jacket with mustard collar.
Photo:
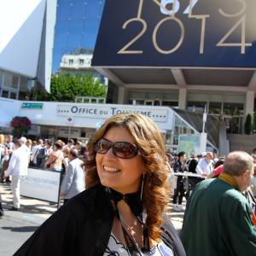
<svg viewBox="0 0 256 256">
<path fill-rule="evenodd" d="M 252 176 L 253 158 L 235 151 L 227 156 L 218 178 L 195 187 L 181 234 L 187 256 L 256 255 L 256 227 L 251 207 L 241 194 Z"/>
</svg>

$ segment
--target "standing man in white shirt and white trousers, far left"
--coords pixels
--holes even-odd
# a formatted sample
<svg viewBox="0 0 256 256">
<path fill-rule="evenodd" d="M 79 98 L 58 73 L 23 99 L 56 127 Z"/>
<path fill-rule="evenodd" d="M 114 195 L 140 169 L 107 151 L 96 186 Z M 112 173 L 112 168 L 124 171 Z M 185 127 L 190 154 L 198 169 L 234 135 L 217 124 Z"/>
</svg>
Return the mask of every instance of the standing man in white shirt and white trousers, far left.
<svg viewBox="0 0 256 256">
<path fill-rule="evenodd" d="M 5 176 L 12 176 L 11 189 L 14 196 L 14 206 L 9 210 L 19 211 L 20 209 L 20 178 L 27 175 L 28 154 L 24 148 L 23 141 L 18 140 L 15 143 L 15 151 L 13 152 L 10 160 L 9 167 Z"/>
</svg>

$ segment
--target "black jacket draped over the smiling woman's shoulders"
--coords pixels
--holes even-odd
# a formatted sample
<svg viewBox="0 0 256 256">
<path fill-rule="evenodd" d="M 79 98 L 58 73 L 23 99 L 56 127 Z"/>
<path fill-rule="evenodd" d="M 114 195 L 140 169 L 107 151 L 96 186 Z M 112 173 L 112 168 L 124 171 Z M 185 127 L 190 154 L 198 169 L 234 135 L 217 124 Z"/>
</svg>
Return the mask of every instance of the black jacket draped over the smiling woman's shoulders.
<svg viewBox="0 0 256 256">
<path fill-rule="evenodd" d="M 86 189 L 67 201 L 14 254 L 26 256 L 102 256 L 113 225 L 113 208 L 101 185 Z M 163 241 L 177 256 L 185 256 L 169 218 L 161 227 Z"/>
</svg>

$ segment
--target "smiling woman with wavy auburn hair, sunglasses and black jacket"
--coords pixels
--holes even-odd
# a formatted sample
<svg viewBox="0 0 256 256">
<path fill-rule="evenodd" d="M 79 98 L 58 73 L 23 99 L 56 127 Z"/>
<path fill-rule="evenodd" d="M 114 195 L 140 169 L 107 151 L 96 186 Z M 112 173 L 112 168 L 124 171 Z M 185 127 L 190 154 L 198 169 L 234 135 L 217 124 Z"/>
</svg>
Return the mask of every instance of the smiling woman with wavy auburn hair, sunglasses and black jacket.
<svg viewBox="0 0 256 256">
<path fill-rule="evenodd" d="M 172 223 L 159 129 L 141 114 L 105 121 L 88 143 L 86 190 L 15 255 L 185 255 Z"/>
</svg>

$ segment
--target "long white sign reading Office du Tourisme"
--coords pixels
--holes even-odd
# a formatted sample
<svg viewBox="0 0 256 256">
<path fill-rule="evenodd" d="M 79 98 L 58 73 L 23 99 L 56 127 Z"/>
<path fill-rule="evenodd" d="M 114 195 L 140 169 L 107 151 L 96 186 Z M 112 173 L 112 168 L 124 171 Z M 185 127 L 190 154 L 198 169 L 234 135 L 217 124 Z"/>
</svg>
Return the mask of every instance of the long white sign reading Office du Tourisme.
<svg viewBox="0 0 256 256">
<path fill-rule="evenodd" d="M 166 122 L 168 119 L 167 109 L 157 108 L 137 108 L 134 106 L 122 106 L 122 107 L 106 107 L 102 106 L 90 106 L 90 105 L 58 105 L 57 115 L 61 116 L 77 116 L 96 119 L 108 119 L 117 113 L 142 113 L 148 118 L 153 119 L 155 122 Z"/>
</svg>

